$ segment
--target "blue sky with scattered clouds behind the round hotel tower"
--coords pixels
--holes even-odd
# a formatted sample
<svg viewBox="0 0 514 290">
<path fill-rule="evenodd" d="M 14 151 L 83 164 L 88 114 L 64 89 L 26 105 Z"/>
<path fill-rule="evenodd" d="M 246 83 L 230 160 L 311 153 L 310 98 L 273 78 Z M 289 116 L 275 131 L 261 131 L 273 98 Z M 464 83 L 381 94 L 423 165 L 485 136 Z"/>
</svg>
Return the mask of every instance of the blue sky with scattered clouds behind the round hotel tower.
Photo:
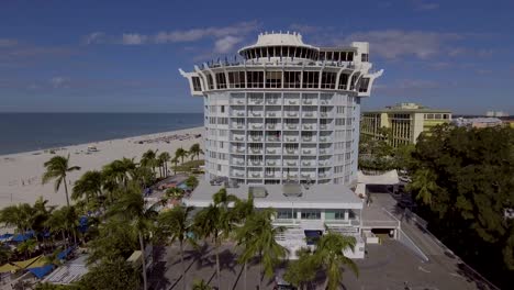
<svg viewBox="0 0 514 290">
<path fill-rule="evenodd" d="M 384 75 L 365 109 L 401 101 L 514 114 L 514 1 L 7 1 L 0 111 L 200 112 L 178 68 L 264 31 L 368 41 Z"/>
</svg>

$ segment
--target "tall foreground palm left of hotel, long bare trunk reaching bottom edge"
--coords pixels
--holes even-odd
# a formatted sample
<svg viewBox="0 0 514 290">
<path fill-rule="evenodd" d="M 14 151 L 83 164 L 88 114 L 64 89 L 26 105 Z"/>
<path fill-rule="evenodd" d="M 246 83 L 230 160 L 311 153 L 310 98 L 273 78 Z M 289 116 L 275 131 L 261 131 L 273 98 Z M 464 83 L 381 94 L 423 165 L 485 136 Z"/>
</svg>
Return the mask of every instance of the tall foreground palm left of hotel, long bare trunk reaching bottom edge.
<svg viewBox="0 0 514 290">
<path fill-rule="evenodd" d="M 152 232 L 153 222 L 157 216 L 157 212 L 153 207 L 147 207 L 143 198 L 141 189 L 136 183 L 130 183 L 126 192 L 112 205 L 111 216 L 119 216 L 128 222 L 137 232 L 139 239 L 139 249 L 143 254 L 143 289 L 146 290 L 146 260 L 145 260 L 145 236 Z"/>
</svg>

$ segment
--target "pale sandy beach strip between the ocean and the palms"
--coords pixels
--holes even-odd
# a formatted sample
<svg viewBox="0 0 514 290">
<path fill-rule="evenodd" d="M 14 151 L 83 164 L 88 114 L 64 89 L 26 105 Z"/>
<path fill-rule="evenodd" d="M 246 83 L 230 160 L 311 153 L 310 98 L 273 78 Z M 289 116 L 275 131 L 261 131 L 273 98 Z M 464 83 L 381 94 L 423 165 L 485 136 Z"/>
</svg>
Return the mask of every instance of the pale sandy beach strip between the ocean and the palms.
<svg viewBox="0 0 514 290">
<path fill-rule="evenodd" d="M 198 137 L 202 134 L 201 137 Z M 189 149 L 192 144 L 199 143 L 203 149 L 203 127 L 193 127 L 172 132 L 135 136 L 122 140 L 111 140 L 66 146 L 51 154 L 48 150 L 26 152 L 0 156 L 0 209 L 22 202 L 33 203 L 38 197 L 48 200 L 52 205 L 65 205 L 66 197 L 64 186 L 54 192 L 54 182 L 42 185 L 44 172 L 43 164 L 56 155 L 67 156 L 69 165 L 80 166 L 79 171 L 70 172 L 68 191 L 71 196 L 74 182 L 87 170 L 101 169 L 105 164 L 123 157 L 141 159 L 144 152 L 158 149 L 168 152 L 171 157 L 179 147 Z M 168 142 L 167 142 L 168 141 Z M 141 144 L 143 142 L 143 144 Z M 98 152 L 88 153 L 88 147 L 94 146 Z"/>
</svg>

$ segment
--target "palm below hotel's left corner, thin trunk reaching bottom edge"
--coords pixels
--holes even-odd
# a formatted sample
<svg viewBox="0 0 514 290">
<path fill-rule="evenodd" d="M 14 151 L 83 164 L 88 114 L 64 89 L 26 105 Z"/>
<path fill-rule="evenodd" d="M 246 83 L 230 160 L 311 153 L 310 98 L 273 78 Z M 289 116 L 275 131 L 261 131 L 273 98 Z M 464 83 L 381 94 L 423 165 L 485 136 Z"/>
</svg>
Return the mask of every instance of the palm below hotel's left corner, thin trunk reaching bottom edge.
<svg viewBox="0 0 514 290">
<path fill-rule="evenodd" d="M 170 211 L 165 211 L 159 214 L 157 219 L 157 228 L 160 236 L 169 238 L 169 243 L 179 242 L 180 246 L 180 265 L 182 267 L 182 286 L 187 289 L 186 285 L 186 268 L 183 264 L 183 244 L 189 242 L 195 245 L 194 241 L 190 237 L 193 230 L 191 222 L 191 207 L 176 207 Z"/>
</svg>

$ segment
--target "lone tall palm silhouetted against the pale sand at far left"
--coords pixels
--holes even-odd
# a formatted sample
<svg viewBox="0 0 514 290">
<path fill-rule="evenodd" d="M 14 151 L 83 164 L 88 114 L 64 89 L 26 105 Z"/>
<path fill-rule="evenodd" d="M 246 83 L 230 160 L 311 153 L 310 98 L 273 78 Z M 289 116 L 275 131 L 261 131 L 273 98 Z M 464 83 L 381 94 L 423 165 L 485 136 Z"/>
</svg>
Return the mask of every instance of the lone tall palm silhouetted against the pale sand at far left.
<svg viewBox="0 0 514 290">
<path fill-rule="evenodd" d="M 43 175 L 43 185 L 49 180 L 55 179 L 54 190 L 57 192 L 60 185 L 64 183 L 66 192 L 66 204 L 69 207 L 68 186 L 66 183 L 66 174 L 75 170 L 80 170 L 78 166 L 69 166 L 69 154 L 68 157 L 55 156 L 44 164 L 46 171 Z"/>
</svg>

